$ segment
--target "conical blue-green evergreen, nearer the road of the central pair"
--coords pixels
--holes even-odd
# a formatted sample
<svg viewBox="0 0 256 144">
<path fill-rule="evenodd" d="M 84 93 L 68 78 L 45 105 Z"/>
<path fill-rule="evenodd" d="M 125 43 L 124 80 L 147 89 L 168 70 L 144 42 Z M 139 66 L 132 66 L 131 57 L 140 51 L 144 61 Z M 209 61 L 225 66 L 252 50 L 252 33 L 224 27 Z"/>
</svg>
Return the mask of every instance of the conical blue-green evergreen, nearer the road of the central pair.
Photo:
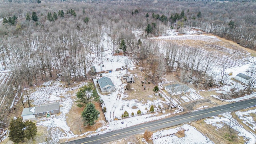
<svg viewBox="0 0 256 144">
<path fill-rule="evenodd" d="M 86 105 L 82 112 L 82 118 L 84 126 L 92 126 L 95 124 L 95 120 L 98 120 L 100 112 L 95 109 L 94 104 L 91 102 Z"/>
</svg>

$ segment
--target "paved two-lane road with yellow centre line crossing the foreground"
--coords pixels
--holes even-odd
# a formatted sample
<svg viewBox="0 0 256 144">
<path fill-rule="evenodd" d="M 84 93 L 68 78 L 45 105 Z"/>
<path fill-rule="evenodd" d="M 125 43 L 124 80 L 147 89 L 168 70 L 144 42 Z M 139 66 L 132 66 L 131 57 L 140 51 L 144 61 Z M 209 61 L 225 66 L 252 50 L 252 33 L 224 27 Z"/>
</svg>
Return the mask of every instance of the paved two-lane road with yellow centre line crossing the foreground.
<svg viewBox="0 0 256 144">
<path fill-rule="evenodd" d="M 183 114 L 179 116 L 173 116 L 171 118 L 165 118 L 161 120 L 156 120 L 152 122 L 147 122 L 144 124 L 139 124 L 136 126 L 131 126 L 129 128 L 124 128 L 122 130 L 116 130 L 113 132 L 107 132 L 105 134 L 100 134 L 97 136 L 92 136 L 88 138 L 82 138 L 79 140 L 74 140 L 68 142 L 68 144 L 102 144 L 105 142 L 111 142 L 113 140 L 118 140 L 120 138 L 126 138 L 131 135 L 144 133 L 146 129 L 159 130 L 162 128 L 168 128 L 171 126 L 176 126 L 179 124 L 185 124 L 187 122 L 192 122 L 202 118 L 208 118 L 218 114 L 223 114 L 226 112 L 236 111 L 243 108 L 248 108 L 256 105 L 256 98 L 250 100 L 244 100 L 241 102 L 235 102 L 232 104 L 226 104 L 222 106 L 216 106 L 213 108 L 207 108 L 204 110 L 198 110 L 188 114 Z"/>
</svg>

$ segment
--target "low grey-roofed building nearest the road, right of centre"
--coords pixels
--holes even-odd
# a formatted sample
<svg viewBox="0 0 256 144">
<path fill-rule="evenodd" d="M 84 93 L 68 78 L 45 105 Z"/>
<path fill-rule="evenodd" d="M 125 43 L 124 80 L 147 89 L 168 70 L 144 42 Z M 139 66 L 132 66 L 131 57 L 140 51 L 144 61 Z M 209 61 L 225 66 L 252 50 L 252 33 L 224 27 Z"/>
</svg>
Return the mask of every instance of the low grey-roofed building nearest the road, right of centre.
<svg viewBox="0 0 256 144">
<path fill-rule="evenodd" d="M 172 96 L 186 93 L 190 89 L 186 85 L 180 85 L 180 84 L 170 84 L 168 86 L 165 86 L 164 89 L 171 94 Z"/>
</svg>

